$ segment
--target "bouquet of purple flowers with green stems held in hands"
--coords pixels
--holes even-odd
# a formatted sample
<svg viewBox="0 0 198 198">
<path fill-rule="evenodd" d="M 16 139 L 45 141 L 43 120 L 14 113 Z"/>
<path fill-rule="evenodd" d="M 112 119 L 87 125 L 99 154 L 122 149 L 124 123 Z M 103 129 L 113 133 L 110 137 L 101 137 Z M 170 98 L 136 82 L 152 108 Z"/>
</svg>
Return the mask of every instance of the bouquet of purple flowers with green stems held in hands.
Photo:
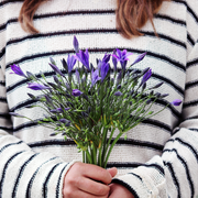
<svg viewBox="0 0 198 198">
<path fill-rule="evenodd" d="M 53 81 L 47 81 L 42 73 L 41 77 L 30 72 L 24 74 L 18 65 L 11 65 L 11 68 L 13 74 L 29 80 L 28 88 L 41 91 L 38 96 L 29 94 L 38 103 L 28 108 L 41 107 L 46 111 L 42 120 L 34 122 L 53 129 L 51 135 L 61 133 L 65 139 L 70 138 L 82 152 L 85 163 L 106 168 L 118 140 L 122 135 L 127 138 L 127 132 L 143 120 L 163 111 L 169 103 L 158 112 L 153 112 L 151 108 L 157 99 L 168 95 L 154 91 L 163 82 L 147 88 L 151 68 L 142 72 L 132 68 L 146 53 L 127 66 L 132 53 L 114 50 L 112 54 L 105 54 L 102 59 L 97 59 L 97 67 L 94 67 L 89 63 L 88 50 L 79 50 L 76 36 L 74 48 L 75 55 L 62 61 L 62 70 L 51 58 Z M 110 59 L 113 67 L 110 67 Z M 172 105 L 179 106 L 180 102 L 174 100 Z M 23 117 L 14 112 L 10 114 Z M 117 135 L 116 129 L 119 130 Z"/>
</svg>

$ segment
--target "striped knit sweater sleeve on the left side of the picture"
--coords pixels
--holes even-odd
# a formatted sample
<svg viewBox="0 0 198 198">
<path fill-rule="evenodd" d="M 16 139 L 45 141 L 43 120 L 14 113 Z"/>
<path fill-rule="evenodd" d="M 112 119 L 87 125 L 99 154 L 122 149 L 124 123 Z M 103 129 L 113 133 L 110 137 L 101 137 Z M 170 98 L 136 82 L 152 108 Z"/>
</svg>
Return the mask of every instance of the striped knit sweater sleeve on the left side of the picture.
<svg viewBox="0 0 198 198">
<path fill-rule="evenodd" d="M 0 1 L 0 197 L 61 198 L 64 175 L 74 162 L 35 153 L 12 135 L 6 80 L 6 3 L 9 1 Z"/>
</svg>

